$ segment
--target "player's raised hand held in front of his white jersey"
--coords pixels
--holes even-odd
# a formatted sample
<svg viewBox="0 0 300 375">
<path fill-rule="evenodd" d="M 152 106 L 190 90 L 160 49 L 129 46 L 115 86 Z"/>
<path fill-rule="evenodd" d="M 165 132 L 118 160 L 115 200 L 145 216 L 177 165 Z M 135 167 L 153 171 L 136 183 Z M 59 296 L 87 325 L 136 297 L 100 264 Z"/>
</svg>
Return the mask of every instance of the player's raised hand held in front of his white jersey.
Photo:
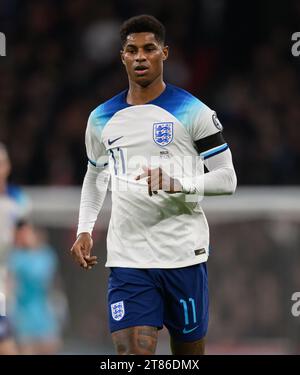
<svg viewBox="0 0 300 375">
<path fill-rule="evenodd" d="M 148 194 L 150 197 L 157 194 L 159 190 L 169 194 L 182 192 L 182 185 L 176 178 L 170 177 L 162 168 L 150 169 L 143 166 L 144 173 L 137 176 L 136 180 L 147 178 Z"/>
</svg>

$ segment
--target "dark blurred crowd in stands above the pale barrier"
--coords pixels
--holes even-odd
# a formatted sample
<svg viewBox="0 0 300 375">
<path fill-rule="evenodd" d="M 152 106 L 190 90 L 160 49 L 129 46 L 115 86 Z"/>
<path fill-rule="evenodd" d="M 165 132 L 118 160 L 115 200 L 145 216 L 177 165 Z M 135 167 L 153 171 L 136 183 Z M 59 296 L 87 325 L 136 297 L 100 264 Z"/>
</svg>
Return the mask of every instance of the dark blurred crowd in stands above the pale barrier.
<svg viewBox="0 0 300 375">
<path fill-rule="evenodd" d="M 119 26 L 140 13 L 167 28 L 166 81 L 218 113 L 239 184 L 298 184 L 298 1 L 2 0 L 0 139 L 12 179 L 80 184 L 89 112 L 126 87 Z"/>
</svg>

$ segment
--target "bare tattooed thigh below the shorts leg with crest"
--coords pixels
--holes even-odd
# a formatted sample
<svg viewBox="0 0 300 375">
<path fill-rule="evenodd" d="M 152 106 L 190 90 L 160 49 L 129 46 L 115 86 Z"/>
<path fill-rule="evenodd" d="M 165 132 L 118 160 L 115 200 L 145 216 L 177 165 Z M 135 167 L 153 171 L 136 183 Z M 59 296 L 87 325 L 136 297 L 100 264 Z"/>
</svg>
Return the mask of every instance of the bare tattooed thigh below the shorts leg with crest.
<svg viewBox="0 0 300 375">
<path fill-rule="evenodd" d="M 137 326 L 112 333 L 117 354 L 152 355 L 157 345 L 157 327 Z"/>
</svg>

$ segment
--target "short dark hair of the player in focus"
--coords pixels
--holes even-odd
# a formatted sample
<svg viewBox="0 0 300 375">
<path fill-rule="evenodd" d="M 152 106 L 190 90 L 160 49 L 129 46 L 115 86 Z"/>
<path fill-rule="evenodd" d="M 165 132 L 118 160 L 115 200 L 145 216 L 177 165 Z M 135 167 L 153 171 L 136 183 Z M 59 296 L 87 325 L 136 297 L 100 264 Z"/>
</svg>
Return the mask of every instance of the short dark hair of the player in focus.
<svg viewBox="0 0 300 375">
<path fill-rule="evenodd" d="M 127 36 L 133 33 L 153 33 L 156 40 L 165 43 L 166 30 L 164 25 L 153 16 L 142 14 L 126 20 L 120 28 L 122 46 L 126 43 Z"/>
</svg>

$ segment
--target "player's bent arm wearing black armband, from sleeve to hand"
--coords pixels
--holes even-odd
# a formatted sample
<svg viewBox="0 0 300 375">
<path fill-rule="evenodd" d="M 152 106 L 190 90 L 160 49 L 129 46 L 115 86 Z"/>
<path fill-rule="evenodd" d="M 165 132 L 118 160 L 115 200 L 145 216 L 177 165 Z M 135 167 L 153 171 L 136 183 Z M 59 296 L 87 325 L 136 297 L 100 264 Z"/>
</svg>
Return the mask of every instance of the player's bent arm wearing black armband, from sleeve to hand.
<svg viewBox="0 0 300 375">
<path fill-rule="evenodd" d="M 150 196 L 157 194 L 158 190 L 171 194 L 184 192 L 207 196 L 230 195 L 235 192 L 237 178 L 232 155 L 215 112 L 205 106 L 193 125 L 190 134 L 208 173 L 177 179 L 170 177 L 161 168 L 144 167 L 144 173 L 136 179 L 147 177 Z"/>
</svg>

